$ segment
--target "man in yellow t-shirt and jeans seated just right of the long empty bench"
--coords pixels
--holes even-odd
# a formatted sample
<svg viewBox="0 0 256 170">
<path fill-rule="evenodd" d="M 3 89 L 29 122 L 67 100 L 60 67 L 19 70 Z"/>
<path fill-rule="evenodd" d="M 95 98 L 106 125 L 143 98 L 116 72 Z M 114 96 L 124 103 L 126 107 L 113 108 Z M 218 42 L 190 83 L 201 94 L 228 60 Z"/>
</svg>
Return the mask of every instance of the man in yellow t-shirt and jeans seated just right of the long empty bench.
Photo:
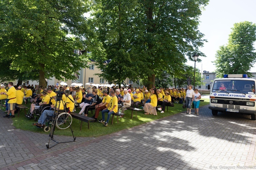
<svg viewBox="0 0 256 170">
<path fill-rule="evenodd" d="M 118 106 L 117 106 L 118 99 L 115 95 L 115 91 L 112 90 L 110 92 L 110 94 L 111 94 L 110 103 L 108 104 L 107 108 L 105 108 L 101 111 L 102 120 L 99 120 L 99 122 L 104 123 L 105 126 L 108 126 L 111 114 L 117 113 L 117 111 L 118 111 Z M 108 113 L 108 118 L 107 118 L 106 122 L 105 122 L 105 113 Z"/>
</svg>

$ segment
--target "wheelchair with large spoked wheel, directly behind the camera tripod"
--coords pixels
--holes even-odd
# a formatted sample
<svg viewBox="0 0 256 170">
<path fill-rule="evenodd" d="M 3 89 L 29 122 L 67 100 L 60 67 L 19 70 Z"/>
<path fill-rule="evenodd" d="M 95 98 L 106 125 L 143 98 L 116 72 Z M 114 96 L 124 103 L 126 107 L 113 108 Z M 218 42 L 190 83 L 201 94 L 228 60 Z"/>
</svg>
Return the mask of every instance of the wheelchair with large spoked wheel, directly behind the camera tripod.
<svg viewBox="0 0 256 170">
<path fill-rule="evenodd" d="M 60 110 L 61 113 L 59 113 L 57 115 L 57 121 L 56 121 L 56 127 L 58 129 L 66 129 L 68 128 L 71 123 L 72 123 L 72 116 L 70 113 L 66 113 L 65 111 L 63 112 L 64 110 Z M 53 121 L 53 117 L 52 116 L 47 116 L 45 121 L 45 126 L 43 127 L 39 127 L 39 128 L 43 128 L 44 129 L 44 132 L 49 132 L 49 130 L 51 129 L 50 128 L 50 124 L 52 124 L 52 121 Z M 47 124 L 47 125 L 46 125 Z"/>
</svg>

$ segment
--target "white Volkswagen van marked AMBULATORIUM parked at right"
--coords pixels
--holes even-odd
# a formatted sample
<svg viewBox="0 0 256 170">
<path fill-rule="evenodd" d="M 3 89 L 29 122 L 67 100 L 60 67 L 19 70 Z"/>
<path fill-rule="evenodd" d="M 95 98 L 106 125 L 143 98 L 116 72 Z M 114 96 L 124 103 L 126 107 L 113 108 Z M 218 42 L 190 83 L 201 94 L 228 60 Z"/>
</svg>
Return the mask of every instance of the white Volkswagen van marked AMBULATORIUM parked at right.
<svg viewBox="0 0 256 170">
<path fill-rule="evenodd" d="M 246 74 L 226 74 L 224 78 L 215 79 L 210 91 L 209 109 L 212 114 L 236 112 L 251 115 L 251 119 L 256 120 L 255 82 Z"/>
</svg>

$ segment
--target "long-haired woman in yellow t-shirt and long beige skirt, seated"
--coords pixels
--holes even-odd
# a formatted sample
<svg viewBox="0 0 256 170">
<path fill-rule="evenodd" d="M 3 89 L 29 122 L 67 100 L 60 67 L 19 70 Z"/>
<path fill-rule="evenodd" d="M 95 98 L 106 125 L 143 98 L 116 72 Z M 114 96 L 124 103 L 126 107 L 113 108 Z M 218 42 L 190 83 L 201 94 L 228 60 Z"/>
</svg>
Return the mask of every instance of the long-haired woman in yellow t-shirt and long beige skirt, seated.
<svg viewBox="0 0 256 170">
<path fill-rule="evenodd" d="M 153 89 L 151 91 L 151 95 L 150 95 L 150 99 L 151 102 L 150 103 L 145 103 L 143 110 L 145 111 L 144 114 L 154 114 L 157 115 L 156 112 L 156 106 L 157 106 L 157 99 L 158 99 L 158 94 L 157 94 L 157 90 Z"/>
</svg>

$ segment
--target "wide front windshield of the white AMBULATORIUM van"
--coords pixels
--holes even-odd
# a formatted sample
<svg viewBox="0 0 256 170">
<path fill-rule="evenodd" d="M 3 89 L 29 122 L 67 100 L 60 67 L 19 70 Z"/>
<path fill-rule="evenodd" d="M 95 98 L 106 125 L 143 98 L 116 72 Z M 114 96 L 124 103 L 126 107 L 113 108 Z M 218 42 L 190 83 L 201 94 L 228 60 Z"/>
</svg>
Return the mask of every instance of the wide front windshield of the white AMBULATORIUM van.
<svg viewBox="0 0 256 170">
<path fill-rule="evenodd" d="M 255 94 L 255 81 L 252 80 L 215 80 L 212 92 Z"/>
</svg>

